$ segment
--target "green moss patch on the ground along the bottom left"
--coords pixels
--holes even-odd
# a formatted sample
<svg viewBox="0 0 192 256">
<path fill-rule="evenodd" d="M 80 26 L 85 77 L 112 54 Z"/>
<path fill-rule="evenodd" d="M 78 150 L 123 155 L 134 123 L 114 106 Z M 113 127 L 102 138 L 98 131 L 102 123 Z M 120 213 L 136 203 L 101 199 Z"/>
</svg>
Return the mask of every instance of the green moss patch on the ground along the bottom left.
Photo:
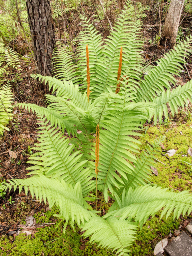
<svg viewBox="0 0 192 256">
<path fill-rule="evenodd" d="M 53 214 L 58 213 L 58 209 L 53 207 L 51 211 L 35 214 L 38 223 L 52 222 Z M 54 220 L 55 221 L 55 220 Z M 96 244 L 90 244 L 88 240 L 83 240 L 80 231 L 74 231 L 68 227 L 63 232 L 64 222 L 58 221 L 54 225 L 37 228 L 34 235 L 26 236 L 20 234 L 15 240 L 7 237 L 0 239 L 1 256 L 109 256 L 112 252 L 103 248 L 97 248 Z"/>
</svg>

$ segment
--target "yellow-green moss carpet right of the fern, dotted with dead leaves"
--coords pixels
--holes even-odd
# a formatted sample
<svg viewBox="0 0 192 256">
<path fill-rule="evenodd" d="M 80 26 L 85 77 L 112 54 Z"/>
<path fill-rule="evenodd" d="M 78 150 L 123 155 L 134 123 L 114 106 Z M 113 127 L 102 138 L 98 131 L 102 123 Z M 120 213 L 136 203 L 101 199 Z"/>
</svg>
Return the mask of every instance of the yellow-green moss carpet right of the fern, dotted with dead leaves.
<svg viewBox="0 0 192 256">
<path fill-rule="evenodd" d="M 152 182 L 163 188 L 175 190 L 188 190 L 191 188 L 192 157 L 188 155 L 188 148 L 192 148 L 192 119 L 186 124 L 169 124 L 169 127 L 150 127 L 147 134 L 141 138 L 143 147 L 147 142 L 152 142 L 160 136 L 166 136 L 164 150 L 177 150 L 174 156 L 169 157 L 166 151 L 162 151 L 156 161 L 158 176 L 152 175 Z"/>
</svg>

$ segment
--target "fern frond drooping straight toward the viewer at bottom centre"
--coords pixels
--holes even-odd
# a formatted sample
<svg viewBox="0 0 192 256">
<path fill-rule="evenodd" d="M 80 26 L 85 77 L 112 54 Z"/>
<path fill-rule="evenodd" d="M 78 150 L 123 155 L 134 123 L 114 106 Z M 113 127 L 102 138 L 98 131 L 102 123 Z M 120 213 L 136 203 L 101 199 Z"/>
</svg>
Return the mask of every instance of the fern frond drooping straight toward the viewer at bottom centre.
<svg viewBox="0 0 192 256">
<path fill-rule="evenodd" d="M 128 246 L 135 240 L 136 228 L 134 222 L 118 220 L 116 217 L 107 219 L 95 216 L 89 222 L 81 224 L 83 236 L 91 236 L 90 242 L 98 243 L 98 246 L 117 250 L 119 256 L 128 256 Z"/>
</svg>

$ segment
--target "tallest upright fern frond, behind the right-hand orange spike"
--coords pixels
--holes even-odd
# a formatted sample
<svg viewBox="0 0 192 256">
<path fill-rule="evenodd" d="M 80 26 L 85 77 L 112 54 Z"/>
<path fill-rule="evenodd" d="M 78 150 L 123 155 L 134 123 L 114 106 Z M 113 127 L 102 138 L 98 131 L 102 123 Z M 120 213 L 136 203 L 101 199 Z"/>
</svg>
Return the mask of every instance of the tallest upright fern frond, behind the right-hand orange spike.
<svg viewBox="0 0 192 256">
<path fill-rule="evenodd" d="M 104 48 L 104 58 L 95 65 L 96 79 L 92 91 L 98 96 L 102 92 L 116 90 L 120 48 L 123 48 L 122 75 L 128 70 L 131 78 L 139 78 L 142 64 L 142 40 L 139 36 L 140 24 L 134 22 L 133 13 L 127 3 L 117 19 Z"/>
</svg>

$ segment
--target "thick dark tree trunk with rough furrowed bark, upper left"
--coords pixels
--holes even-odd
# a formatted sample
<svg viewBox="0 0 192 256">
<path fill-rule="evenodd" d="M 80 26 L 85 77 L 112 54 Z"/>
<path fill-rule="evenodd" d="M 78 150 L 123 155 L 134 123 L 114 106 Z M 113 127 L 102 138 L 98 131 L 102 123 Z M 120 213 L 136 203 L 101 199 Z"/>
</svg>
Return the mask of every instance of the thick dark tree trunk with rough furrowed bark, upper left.
<svg viewBox="0 0 192 256">
<path fill-rule="evenodd" d="M 50 0 L 26 0 L 36 71 L 43 76 L 52 75 L 51 58 L 55 44 Z M 42 89 L 46 89 L 44 86 Z"/>
</svg>

